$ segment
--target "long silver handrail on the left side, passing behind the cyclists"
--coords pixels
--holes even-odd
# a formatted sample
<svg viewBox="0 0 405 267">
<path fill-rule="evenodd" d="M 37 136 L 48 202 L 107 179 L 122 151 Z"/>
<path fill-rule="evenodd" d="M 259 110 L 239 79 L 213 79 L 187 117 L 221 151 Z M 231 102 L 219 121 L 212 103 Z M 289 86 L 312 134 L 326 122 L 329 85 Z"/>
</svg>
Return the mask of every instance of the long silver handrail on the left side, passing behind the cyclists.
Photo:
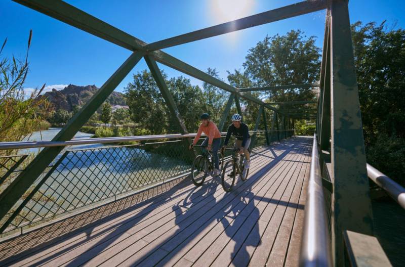
<svg viewBox="0 0 405 267">
<path fill-rule="evenodd" d="M 276 130 L 268 130 L 272 132 Z M 291 130 L 278 130 L 278 131 L 291 131 Z M 265 131 L 250 131 L 250 133 L 265 132 Z M 226 135 L 226 132 L 221 132 L 222 135 Z M 0 150 L 5 149 L 22 149 L 22 148 L 38 148 L 38 147 L 66 147 L 75 145 L 90 145 L 90 144 L 106 144 L 106 143 L 120 143 L 131 141 L 145 141 L 145 140 L 160 140 L 160 139 L 176 139 L 176 138 L 192 138 L 197 133 L 187 133 L 182 135 L 181 133 L 175 133 L 173 135 L 155 135 L 155 136 L 132 136 L 132 137 L 107 137 L 107 138 L 89 138 L 89 139 L 77 139 L 70 141 L 20 141 L 20 142 L 3 142 L 0 143 Z M 205 136 L 205 135 L 201 135 Z"/>
</svg>

